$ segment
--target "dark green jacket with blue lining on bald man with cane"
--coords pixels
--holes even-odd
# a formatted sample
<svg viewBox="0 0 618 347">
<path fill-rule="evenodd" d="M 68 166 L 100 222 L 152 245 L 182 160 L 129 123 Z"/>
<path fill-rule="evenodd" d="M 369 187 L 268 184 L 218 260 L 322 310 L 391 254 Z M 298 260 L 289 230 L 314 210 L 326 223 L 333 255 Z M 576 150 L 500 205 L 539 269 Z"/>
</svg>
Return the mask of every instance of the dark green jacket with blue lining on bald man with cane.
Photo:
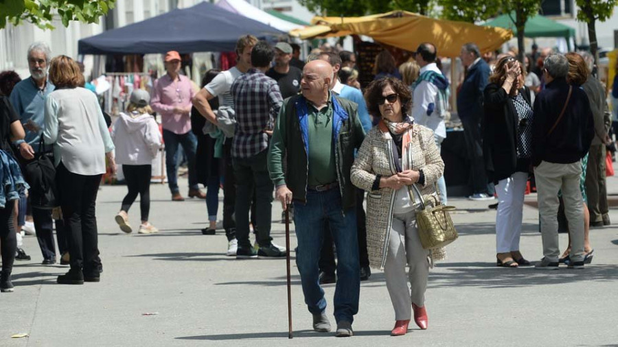
<svg viewBox="0 0 618 347">
<path fill-rule="evenodd" d="M 350 169 L 354 163 L 355 149 L 365 139 L 363 125 L 358 119 L 356 103 L 331 96 L 333 116 L 333 141 L 335 162 L 342 211 L 356 204 L 355 187 L 350 182 Z M 268 171 L 275 187 L 283 184 L 293 193 L 293 200 L 306 202 L 308 176 L 308 108 L 302 95 L 289 97 L 282 105 L 273 130 L 268 150 Z M 286 173 L 283 160 L 286 158 Z"/>
</svg>

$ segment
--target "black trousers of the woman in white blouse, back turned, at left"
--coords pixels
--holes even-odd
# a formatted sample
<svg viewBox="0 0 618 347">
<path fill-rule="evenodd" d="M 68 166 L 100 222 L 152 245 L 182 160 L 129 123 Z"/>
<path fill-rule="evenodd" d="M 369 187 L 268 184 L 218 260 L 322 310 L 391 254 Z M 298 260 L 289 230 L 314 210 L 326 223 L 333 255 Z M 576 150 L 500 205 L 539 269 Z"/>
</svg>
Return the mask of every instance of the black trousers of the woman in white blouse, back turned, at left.
<svg viewBox="0 0 618 347">
<path fill-rule="evenodd" d="M 72 173 L 62 163 L 56 168 L 71 269 L 82 270 L 87 275 L 98 273 L 100 266 L 95 206 L 101 176 Z"/>
</svg>

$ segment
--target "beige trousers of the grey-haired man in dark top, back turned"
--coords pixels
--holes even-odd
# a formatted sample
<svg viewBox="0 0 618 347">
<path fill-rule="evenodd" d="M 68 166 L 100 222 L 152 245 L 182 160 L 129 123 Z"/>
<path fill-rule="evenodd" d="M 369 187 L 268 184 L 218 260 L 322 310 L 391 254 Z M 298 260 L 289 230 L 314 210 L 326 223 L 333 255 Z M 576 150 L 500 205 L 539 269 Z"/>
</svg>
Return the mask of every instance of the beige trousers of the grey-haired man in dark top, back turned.
<svg viewBox="0 0 618 347">
<path fill-rule="evenodd" d="M 558 261 L 558 191 L 562 189 L 564 214 L 571 234 L 571 261 L 584 260 L 584 200 L 580 191 L 582 163 L 556 164 L 542 161 L 534 168 L 543 256 Z"/>
</svg>

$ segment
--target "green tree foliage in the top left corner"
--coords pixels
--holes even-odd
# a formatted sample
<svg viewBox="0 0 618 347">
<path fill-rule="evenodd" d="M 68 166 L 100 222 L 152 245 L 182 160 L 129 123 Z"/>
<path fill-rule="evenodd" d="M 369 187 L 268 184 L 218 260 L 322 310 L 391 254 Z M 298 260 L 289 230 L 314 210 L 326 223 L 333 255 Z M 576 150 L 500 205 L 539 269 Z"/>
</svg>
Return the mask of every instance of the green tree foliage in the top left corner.
<svg viewBox="0 0 618 347">
<path fill-rule="evenodd" d="M 62 25 L 69 21 L 98 23 L 100 16 L 113 8 L 116 0 L 0 0 L 0 29 L 7 23 L 29 21 L 41 29 L 54 29 L 58 16 Z"/>
</svg>

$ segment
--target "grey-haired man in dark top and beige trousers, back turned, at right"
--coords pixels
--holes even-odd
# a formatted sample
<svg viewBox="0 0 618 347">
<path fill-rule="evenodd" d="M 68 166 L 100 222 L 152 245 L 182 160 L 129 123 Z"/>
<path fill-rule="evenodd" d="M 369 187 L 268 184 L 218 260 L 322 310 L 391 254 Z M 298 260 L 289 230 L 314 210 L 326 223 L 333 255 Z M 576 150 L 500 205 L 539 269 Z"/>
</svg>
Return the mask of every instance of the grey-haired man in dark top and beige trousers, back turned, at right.
<svg viewBox="0 0 618 347">
<path fill-rule="evenodd" d="M 569 62 L 560 54 L 545 59 L 547 83 L 534 101 L 532 165 L 538 191 L 543 243 L 539 270 L 558 270 L 558 192 L 571 232 L 571 268 L 584 267 L 584 201 L 581 160 L 595 134 L 586 93 L 567 83 Z"/>
</svg>

